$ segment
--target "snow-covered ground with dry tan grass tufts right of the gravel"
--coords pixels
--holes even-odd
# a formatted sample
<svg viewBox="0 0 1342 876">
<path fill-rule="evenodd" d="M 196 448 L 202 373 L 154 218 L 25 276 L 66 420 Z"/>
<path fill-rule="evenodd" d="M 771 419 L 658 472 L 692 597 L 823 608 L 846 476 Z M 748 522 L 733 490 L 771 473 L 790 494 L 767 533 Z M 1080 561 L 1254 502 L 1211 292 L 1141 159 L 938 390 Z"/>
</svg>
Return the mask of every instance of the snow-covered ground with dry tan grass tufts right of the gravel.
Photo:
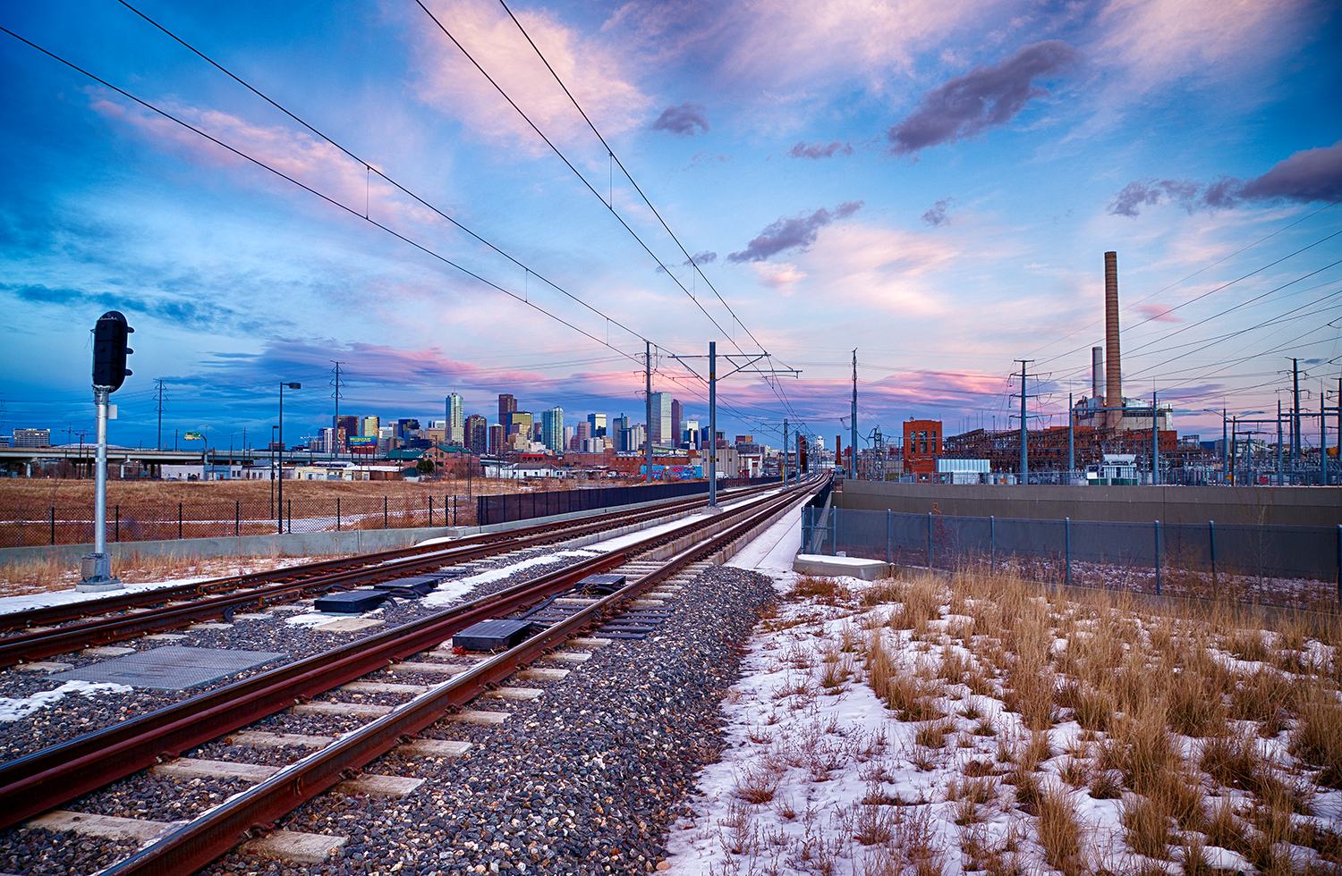
<svg viewBox="0 0 1342 876">
<path fill-rule="evenodd" d="M 1028 660 L 1001 651 L 1011 641 L 1005 629 L 985 629 L 984 617 L 1004 624 L 986 598 L 957 600 L 943 585 L 925 582 L 922 592 L 938 596 L 915 622 L 905 616 L 910 609 L 898 601 L 895 582 L 836 578 L 816 586 L 798 578 L 792 571 L 798 545 L 800 511 L 731 562 L 769 574 L 790 598 L 749 643 L 745 675 L 723 706 L 727 749 L 701 774 L 694 817 L 671 833 L 671 873 L 1180 873 L 1189 872 L 1182 863 L 1189 848 L 1210 868 L 1201 872 L 1256 872 L 1255 863 L 1261 872 L 1304 872 L 1311 864 L 1338 872 L 1338 861 L 1318 849 L 1337 856 L 1342 791 L 1315 785 L 1317 769 L 1292 757 L 1292 722 L 1274 730 L 1249 720 L 1224 726 L 1249 741 L 1255 775 L 1268 777 L 1253 781 L 1292 789 L 1295 812 L 1279 821 L 1288 824 L 1280 840 L 1296 845 L 1270 842 L 1271 818 L 1253 793 L 1198 770 L 1209 736 L 1166 731 L 1161 719 L 1158 735 L 1178 755 L 1172 769 L 1196 786 L 1186 796 L 1206 814 L 1159 822 L 1149 833 L 1164 841 L 1142 845 L 1139 855 L 1134 844 L 1142 834 L 1127 825 L 1138 824 L 1134 813 L 1145 798 L 1129 786 L 1142 786 L 1125 771 L 1131 763 L 1123 758 L 1135 755 L 1117 735 L 1127 718 L 1111 716 L 1113 734 L 1083 730 L 1072 710 L 1053 703 L 1068 683 L 1060 656 L 1095 629 L 1086 610 L 1032 600 L 1045 631 L 1035 677 L 1047 679 L 1048 716 L 1032 732 L 1024 716 L 1031 710 L 1019 702 L 1025 681 L 1013 677 Z M 798 580 L 805 596 L 794 592 Z M 1079 620 L 1066 620 L 1071 612 Z M 1153 618 L 1123 622 L 1137 643 L 1158 641 L 1165 629 Z M 988 635 L 972 635 L 980 631 Z M 1243 677 L 1278 672 L 1224 649 L 1209 652 Z M 1295 653 L 1337 677 L 1333 645 L 1308 641 Z M 872 668 L 882 660 L 891 677 L 922 692 L 922 714 L 899 714 L 892 699 L 878 698 L 875 687 L 887 696 L 890 690 L 886 673 Z M 1335 683 L 1327 696 L 1337 708 Z M 1225 822 L 1212 825 L 1217 805 L 1228 808 Z"/>
</svg>

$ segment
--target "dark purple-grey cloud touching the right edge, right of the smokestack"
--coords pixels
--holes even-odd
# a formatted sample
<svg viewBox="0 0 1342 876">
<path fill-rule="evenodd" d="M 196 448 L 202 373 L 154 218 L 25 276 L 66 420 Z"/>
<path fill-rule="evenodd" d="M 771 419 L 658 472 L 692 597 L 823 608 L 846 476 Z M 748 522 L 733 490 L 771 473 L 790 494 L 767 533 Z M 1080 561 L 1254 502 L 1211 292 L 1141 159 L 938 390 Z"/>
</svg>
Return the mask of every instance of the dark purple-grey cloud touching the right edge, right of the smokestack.
<svg viewBox="0 0 1342 876">
<path fill-rule="evenodd" d="M 1205 184 L 1197 180 L 1134 180 L 1114 196 L 1108 212 L 1135 217 L 1143 207 L 1154 207 L 1166 200 L 1192 213 L 1198 209 L 1229 208 L 1241 201 L 1307 204 L 1338 199 L 1342 199 L 1342 141 L 1298 152 L 1247 182 L 1235 177 L 1220 177 Z"/>
</svg>

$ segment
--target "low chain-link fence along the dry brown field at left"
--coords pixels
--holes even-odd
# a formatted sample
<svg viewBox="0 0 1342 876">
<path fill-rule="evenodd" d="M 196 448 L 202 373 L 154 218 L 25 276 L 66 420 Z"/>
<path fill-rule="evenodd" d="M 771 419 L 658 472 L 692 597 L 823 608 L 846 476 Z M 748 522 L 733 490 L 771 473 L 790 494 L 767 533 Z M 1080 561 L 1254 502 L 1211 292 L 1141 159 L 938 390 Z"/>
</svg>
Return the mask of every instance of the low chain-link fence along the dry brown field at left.
<svg viewBox="0 0 1342 876">
<path fill-rule="evenodd" d="M 0 521 L 0 547 L 85 545 L 94 541 L 89 503 L 25 506 Z M 219 538 L 279 533 L 474 526 L 468 496 L 321 496 L 242 500 L 134 502 L 107 506 L 107 541 Z"/>
</svg>

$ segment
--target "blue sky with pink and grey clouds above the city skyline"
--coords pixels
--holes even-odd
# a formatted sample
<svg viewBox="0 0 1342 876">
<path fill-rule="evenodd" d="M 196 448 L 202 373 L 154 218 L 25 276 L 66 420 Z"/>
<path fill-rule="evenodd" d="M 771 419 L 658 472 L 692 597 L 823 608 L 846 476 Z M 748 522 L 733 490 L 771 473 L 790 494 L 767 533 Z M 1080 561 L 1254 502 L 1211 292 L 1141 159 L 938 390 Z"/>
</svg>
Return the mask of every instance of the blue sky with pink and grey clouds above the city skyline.
<svg viewBox="0 0 1342 876">
<path fill-rule="evenodd" d="M 136 327 L 118 443 L 154 441 L 160 377 L 169 435 L 267 432 L 282 378 L 286 435 L 314 431 L 333 360 L 345 413 L 440 417 L 455 389 L 491 421 L 499 392 L 641 420 L 644 339 L 701 420 L 672 354 L 801 369 L 725 381 L 729 433 L 847 432 L 854 347 L 863 433 L 1005 428 L 1015 358 L 1062 424 L 1106 250 L 1125 394 L 1154 386 L 1181 433 L 1275 408 L 1287 357 L 1310 408 L 1337 389 L 1333 4 L 513 5 L 675 240 L 497 0 L 132 5 L 330 141 L 121 3 L 9 4 L 4 28 L 236 152 L 0 34 L 5 433 L 89 428 L 109 309 Z"/>
</svg>

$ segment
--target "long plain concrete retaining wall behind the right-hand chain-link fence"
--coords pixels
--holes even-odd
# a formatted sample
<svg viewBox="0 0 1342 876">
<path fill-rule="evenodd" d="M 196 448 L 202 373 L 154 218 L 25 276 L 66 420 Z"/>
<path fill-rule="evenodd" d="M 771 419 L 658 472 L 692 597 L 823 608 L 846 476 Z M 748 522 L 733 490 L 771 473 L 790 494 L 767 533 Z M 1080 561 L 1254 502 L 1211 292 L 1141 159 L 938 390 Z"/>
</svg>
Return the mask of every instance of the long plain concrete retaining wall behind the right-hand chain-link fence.
<svg viewBox="0 0 1342 876">
<path fill-rule="evenodd" d="M 1049 487 L 844 480 L 840 508 L 1131 523 L 1342 525 L 1342 487 Z"/>
</svg>

